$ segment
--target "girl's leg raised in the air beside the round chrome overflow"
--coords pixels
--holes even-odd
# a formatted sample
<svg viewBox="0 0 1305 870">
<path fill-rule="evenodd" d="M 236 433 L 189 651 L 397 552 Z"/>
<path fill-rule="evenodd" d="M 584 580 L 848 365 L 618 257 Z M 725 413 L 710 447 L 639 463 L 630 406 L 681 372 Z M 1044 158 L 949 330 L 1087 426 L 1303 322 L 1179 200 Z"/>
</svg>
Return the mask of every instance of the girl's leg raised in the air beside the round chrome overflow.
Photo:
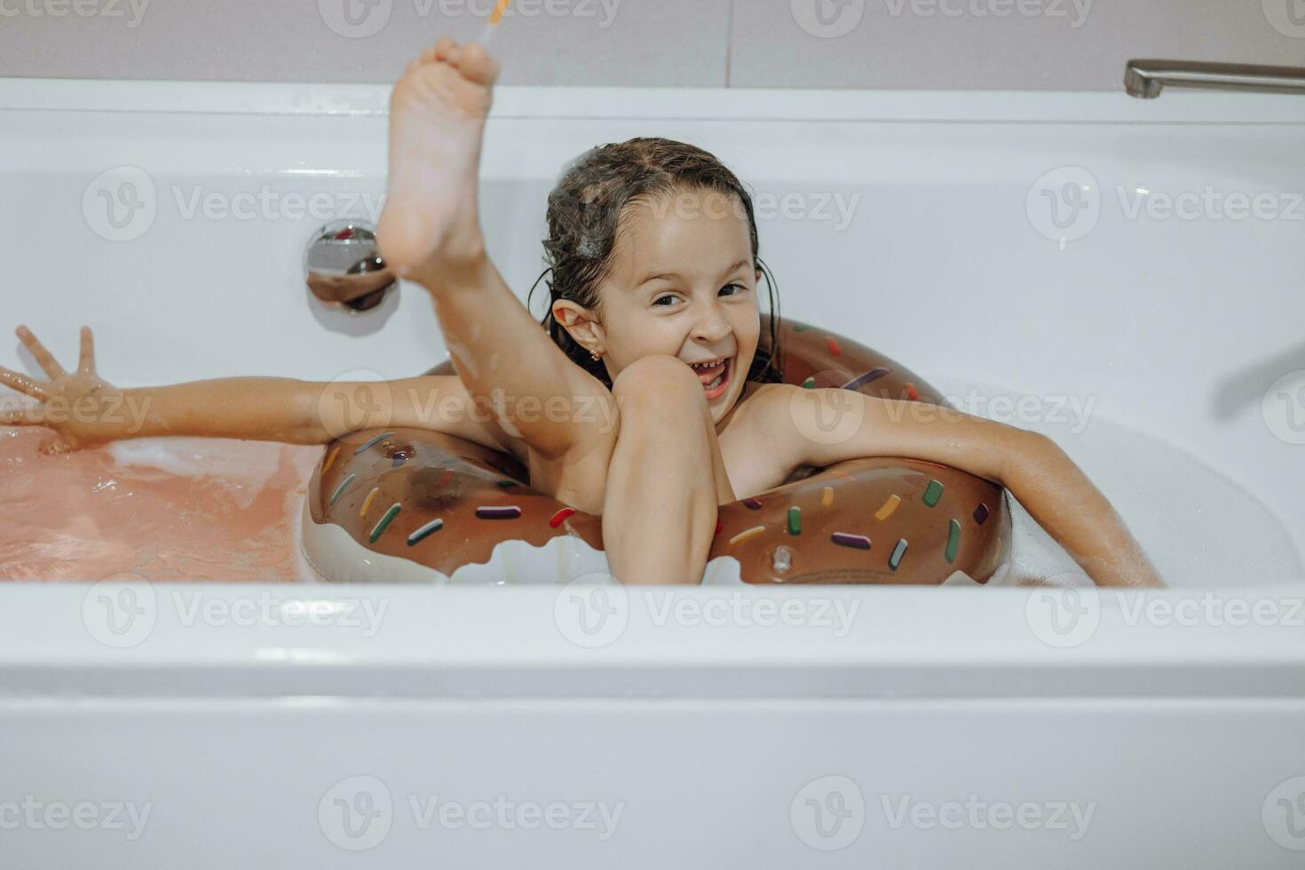
<svg viewBox="0 0 1305 870">
<path fill-rule="evenodd" d="M 478 406 L 547 457 L 615 425 L 607 387 L 572 363 L 485 254 L 476 197 L 499 64 L 441 39 L 390 98 L 390 175 L 377 239 L 386 262 L 425 287 L 453 364 Z M 525 403 L 525 404 L 523 404 Z M 611 433 L 607 433 L 611 437 Z"/>
</svg>

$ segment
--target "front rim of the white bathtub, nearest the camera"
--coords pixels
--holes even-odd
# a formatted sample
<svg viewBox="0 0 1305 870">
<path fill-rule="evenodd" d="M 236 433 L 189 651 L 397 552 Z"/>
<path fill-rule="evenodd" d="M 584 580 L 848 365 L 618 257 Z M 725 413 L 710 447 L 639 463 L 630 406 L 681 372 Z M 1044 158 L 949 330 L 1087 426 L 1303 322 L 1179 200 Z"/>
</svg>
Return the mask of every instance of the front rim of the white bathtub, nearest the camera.
<svg viewBox="0 0 1305 870">
<path fill-rule="evenodd" d="M 116 592 L 108 584 L 108 591 Z M 1305 631 L 1276 626 L 1128 625 L 1101 590 L 1086 643 L 1053 648 L 1024 622 L 1021 588 L 684 587 L 703 601 L 735 595 L 861 603 L 853 630 L 655 625 L 645 592 L 616 642 L 585 648 L 555 622 L 556 587 L 155 583 L 157 622 L 112 648 L 80 620 L 94 583 L 0 584 L 0 699 L 429 698 L 429 699 L 997 699 L 1305 698 Z M 1178 601 L 1210 590 L 1124 592 Z M 268 596 L 388 601 L 371 638 L 356 626 L 236 626 L 179 621 L 179 599 L 231 605 Z M 1227 599 L 1300 603 L 1305 587 L 1266 584 Z M 193 604 L 194 599 L 189 603 Z M 664 605 L 666 599 L 654 599 Z M 1296 605 L 1296 620 L 1305 608 Z M 1023 627 L 1022 627 L 1023 626 Z"/>
</svg>

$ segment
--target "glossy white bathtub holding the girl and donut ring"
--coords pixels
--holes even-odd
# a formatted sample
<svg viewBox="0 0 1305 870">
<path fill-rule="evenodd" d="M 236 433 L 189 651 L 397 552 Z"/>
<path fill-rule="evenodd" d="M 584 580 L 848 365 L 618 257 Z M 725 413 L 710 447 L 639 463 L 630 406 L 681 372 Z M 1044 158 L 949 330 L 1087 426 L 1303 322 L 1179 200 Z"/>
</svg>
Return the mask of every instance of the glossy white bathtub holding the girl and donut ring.
<svg viewBox="0 0 1305 870">
<path fill-rule="evenodd" d="M 93 323 L 125 386 L 429 368 L 414 288 L 303 284 L 311 197 L 378 206 L 385 98 L 0 81 L 5 318 Z M 564 160 L 637 134 L 756 188 L 786 316 L 1057 437 L 1174 588 L 0 584 L 0 865 L 1296 866 L 1305 100 L 504 89 L 522 299 Z"/>
</svg>

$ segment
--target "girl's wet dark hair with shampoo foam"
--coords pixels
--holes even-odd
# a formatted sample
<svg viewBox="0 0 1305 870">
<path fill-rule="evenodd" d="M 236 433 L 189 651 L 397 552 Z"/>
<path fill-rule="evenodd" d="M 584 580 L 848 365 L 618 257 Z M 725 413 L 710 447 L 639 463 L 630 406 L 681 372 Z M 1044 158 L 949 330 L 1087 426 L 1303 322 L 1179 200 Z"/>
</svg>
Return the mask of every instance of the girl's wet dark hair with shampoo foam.
<svg viewBox="0 0 1305 870">
<path fill-rule="evenodd" d="M 720 160 L 693 145 L 664 138 L 633 138 L 602 145 L 576 158 L 548 194 L 548 237 L 544 261 L 548 269 L 535 280 L 530 295 L 544 277 L 548 284 L 548 313 L 543 326 L 553 342 L 576 365 L 611 389 L 607 368 L 595 360 L 570 333 L 553 318 L 553 304 L 570 300 L 602 318 L 598 287 L 611 274 L 612 252 L 626 206 L 673 193 L 715 190 L 737 198 L 748 217 L 754 267 L 766 278 L 770 292 L 770 346 L 757 343 L 748 369 L 749 381 L 783 381 L 783 351 L 779 347 L 779 300 L 775 279 L 758 256 L 757 218 L 752 194 Z M 526 297 L 530 305 L 530 296 Z M 766 316 L 766 312 L 761 312 Z"/>
</svg>

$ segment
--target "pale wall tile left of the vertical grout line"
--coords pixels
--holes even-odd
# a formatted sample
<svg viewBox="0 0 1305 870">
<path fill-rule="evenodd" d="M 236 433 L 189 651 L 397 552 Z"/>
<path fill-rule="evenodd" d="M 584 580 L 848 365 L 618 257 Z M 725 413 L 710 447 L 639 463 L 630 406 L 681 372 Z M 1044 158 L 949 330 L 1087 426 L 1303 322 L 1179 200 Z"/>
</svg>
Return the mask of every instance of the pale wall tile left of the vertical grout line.
<svg viewBox="0 0 1305 870">
<path fill-rule="evenodd" d="M 493 4 L 371 1 L 91 0 L 84 8 L 121 13 L 91 17 L 10 3 L 20 14 L 0 17 L 0 76 L 390 82 L 444 34 L 480 38 Z M 512 85 L 723 86 L 728 12 L 728 0 L 514 0 L 492 48 Z"/>
</svg>

